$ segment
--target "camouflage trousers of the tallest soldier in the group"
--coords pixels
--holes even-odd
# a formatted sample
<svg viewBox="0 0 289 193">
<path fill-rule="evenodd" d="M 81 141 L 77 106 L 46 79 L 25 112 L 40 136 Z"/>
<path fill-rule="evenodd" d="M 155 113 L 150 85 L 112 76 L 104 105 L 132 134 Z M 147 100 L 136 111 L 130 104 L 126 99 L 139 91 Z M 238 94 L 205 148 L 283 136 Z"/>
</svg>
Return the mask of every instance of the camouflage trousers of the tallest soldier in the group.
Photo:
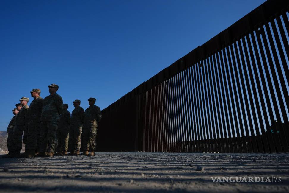
<svg viewBox="0 0 289 193">
<path fill-rule="evenodd" d="M 40 152 L 56 151 L 56 132 L 58 122 L 41 121 L 40 122 Z"/>
</svg>

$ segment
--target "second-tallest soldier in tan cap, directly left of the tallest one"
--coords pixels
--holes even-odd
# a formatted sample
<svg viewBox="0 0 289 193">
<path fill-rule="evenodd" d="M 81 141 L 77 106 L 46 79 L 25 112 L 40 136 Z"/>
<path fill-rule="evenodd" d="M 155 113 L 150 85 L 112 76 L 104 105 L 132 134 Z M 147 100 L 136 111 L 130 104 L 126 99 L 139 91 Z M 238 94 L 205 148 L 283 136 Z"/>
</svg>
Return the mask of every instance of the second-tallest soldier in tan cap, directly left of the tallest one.
<svg viewBox="0 0 289 193">
<path fill-rule="evenodd" d="M 31 102 L 25 117 L 27 137 L 25 153 L 21 157 L 34 157 L 40 151 L 40 117 L 43 105 L 43 98 L 40 97 L 40 92 L 40 89 L 32 89 L 30 91 L 34 100 Z"/>
</svg>

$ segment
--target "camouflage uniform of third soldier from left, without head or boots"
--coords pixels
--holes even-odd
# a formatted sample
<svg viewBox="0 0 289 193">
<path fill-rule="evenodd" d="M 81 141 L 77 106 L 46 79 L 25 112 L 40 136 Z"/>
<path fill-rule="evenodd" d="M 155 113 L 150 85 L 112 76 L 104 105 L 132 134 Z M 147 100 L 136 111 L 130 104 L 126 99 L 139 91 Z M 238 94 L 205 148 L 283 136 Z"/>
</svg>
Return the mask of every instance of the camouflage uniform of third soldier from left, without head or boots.
<svg viewBox="0 0 289 193">
<path fill-rule="evenodd" d="M 22 149 L 22 134 L 25 127 L 24 121 L 28 108 L 28 105 L 24 105 L 17 114 L 16 126 L 13 128 L 13 151 L 20 151 Z"/>
</svg>

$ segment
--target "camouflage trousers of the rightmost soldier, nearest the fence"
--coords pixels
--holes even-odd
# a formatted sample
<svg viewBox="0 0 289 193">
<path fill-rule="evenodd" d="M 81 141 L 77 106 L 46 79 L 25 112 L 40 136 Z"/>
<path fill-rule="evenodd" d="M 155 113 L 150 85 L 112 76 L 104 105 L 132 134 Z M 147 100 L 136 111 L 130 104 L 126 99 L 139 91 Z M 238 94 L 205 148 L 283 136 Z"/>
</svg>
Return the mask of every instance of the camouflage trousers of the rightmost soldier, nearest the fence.
<svg viewBox="0 0 289 193">
<path fill-rule="evenodd" d="M 97 133 L 97 127 L 82 128 L 82 136 L 83 136 L 82 140 L 84 144 L 83 151 L 89 151 L 89 147 L 91 151 L 95 151 L 96 133 Z"/>
</svg>

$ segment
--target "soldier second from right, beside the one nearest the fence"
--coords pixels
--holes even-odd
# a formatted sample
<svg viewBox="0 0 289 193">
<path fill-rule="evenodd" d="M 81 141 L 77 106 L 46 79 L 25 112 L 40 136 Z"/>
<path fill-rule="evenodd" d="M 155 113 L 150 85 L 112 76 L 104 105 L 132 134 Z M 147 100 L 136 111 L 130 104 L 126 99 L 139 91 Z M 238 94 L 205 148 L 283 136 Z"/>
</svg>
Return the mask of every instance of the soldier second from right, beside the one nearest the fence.
<svg viewBox="0 0 289 193">
<path fill-rule="evenodd" d="M 79 106 L 80 105 L 80 100 L 75 100 L 73 101 L 73 106 L 75 107 L 72 111 L 72 116 L 71 116 L 71 126 L 70 126 L 70 132 L 71 136 L 73 136 L 72 139 L 72 148 L 71 152 L 68 155 L 78 155 L 80 151 L 80 146 L 81 146 L 81 140 L 80 136 L 82 133 L 82 126 L 84 123 L 84 109 Z M 70 133 L 69 133 L 70 137 Z"/>
</svg>

